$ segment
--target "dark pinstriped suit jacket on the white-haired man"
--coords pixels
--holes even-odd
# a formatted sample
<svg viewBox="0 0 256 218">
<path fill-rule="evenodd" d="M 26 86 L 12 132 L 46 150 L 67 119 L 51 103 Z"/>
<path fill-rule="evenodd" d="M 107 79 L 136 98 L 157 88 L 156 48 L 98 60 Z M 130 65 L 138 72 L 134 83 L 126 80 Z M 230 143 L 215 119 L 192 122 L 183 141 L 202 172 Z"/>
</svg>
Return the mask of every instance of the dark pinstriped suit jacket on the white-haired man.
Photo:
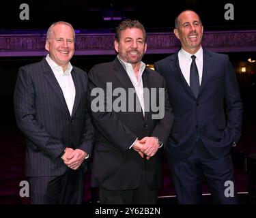
<svg viewBox="0 0 256 218">
<path fill-rule="evenodd" d="M 27 176 L 59 176 L 67 167 L 59 157 L 67 146 L 91 155 L 94 131 L 87 110 L 87 74 L 74 67 L 76 89 L 72 116 L 51 67 L 43 59 L 20 67 L 14 111 L 26 137 Z"/>
</svg>

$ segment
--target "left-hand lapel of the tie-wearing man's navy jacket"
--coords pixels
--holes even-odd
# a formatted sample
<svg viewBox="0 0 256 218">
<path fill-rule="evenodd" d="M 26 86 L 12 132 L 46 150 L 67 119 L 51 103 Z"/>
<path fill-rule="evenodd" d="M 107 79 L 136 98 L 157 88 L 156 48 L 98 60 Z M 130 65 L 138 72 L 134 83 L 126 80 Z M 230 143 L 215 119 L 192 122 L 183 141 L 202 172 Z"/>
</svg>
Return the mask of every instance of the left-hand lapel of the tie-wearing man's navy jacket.
<svg viewBox="0 0 256 218">
<path fill-rule="evenodd" d="M 173 75 L 175 76 L 177 81 L 180 82 L 182 87 L 186 90 L 186 92 L 195 98 L 190 87 L 188 86 L 188 82 L 186 82 L 186 79 L 182 74 L 182 70 L 180 69 L 180 64 L 179 64 L 179 59 L 177 54 L 178 52 L 176 52 L 175 55 L 171 57 L 171 61 L 170 61 L 171 71 L 173 72 Z"/>
</svg>

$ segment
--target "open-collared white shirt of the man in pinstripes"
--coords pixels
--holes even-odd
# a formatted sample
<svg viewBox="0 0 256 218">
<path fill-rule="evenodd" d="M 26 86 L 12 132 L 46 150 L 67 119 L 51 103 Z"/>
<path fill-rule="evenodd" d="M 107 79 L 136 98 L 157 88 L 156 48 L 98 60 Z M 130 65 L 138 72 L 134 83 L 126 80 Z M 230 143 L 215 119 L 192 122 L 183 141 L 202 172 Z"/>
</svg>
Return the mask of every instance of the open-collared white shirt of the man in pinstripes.
<svg viewBox="0 0 256 218">
<path fill-rule="evenodd" d="M 57 65 L 57 63 L 55 63 L 49 55 L 46 56 L 46 61 L 53 70 L 53 74 L 59 83 L 59 87 L 61 87 L 62 93 L 66 100 L 66 104 L 68 106 L 68 110 L 71 116 L 74 106 L 74 97 L 76 96 L 76 89 L 74 87 L 74 82 L 71 75 L 71 70 L 73 67 L 69 62 L 68 69 L 66 69 L 66 71 L 63 72 L 62 67 Z"/>
</svg>

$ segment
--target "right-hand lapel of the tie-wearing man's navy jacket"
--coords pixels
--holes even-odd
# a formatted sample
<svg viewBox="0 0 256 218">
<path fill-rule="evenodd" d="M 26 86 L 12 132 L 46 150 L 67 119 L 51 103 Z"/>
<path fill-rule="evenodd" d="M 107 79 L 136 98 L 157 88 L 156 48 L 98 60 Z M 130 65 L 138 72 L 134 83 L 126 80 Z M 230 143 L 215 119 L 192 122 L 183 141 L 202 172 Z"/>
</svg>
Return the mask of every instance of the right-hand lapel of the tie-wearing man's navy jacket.
<svg viewBox="0 0 256 218">
<path fill-rule="evenodd" d="M 212 55 L 210 54 L 210 52 L 203 49 L 203 75 L 202 75 L 201 86 L 199 89 L 199 95 L 202 92 L 203 87 L 205 87 L 206 82 L 208 81 L 208 79 L 212 74 L 212 64 L 213 64 Z"/>
</svg>

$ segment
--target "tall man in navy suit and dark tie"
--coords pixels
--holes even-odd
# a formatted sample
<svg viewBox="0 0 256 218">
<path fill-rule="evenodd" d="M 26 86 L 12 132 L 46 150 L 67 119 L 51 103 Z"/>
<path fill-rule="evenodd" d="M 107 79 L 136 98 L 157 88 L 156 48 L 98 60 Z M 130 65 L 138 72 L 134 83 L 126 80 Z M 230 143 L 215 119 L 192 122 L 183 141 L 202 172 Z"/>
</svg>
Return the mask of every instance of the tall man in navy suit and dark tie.
<svg viewBox="0 0 256 218">
<path fill-rule="evenodd" d="M 186 10 L 175 19 L 182 48 L 156 62 L 167 83 L 173 128 L 167 146 L 177 202 L 201 202 L 201 176 L 219 204 L 236 204 L 231 147 L 240 138 L 242 102 L 229 57 L 201 47 L 199 16 Z"/>
</svg>

